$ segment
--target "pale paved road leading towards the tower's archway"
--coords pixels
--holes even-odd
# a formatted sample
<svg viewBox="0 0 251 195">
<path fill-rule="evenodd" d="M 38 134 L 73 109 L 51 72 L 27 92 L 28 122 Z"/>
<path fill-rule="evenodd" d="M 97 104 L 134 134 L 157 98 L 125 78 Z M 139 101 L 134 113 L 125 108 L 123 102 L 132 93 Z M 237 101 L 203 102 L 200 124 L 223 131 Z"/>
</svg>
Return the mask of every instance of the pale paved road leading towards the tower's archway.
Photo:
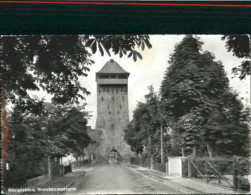
<svg viewBox="0 0 251 195">
<path fill-rule="evenodd" d="M 123 165 L 99 165 L 79 178 L 77 194 L 181 194 L 177 187 L 166 185 L 135 173 Z"/>
</svg>

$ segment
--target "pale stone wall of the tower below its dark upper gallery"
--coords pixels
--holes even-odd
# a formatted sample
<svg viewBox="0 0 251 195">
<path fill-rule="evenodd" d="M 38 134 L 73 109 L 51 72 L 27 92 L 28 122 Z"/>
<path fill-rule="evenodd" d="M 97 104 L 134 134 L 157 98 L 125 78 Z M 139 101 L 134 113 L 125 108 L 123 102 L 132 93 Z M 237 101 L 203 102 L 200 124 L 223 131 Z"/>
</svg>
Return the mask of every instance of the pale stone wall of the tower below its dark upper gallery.
<svg viewBox="0 0 251 195">
<path fill-rule="evenodd" d="M 115 148 L 122 156 L 129 155 L 130 148 L 124 141 L 124 127 L 129 122 L 127 84 L 98 84 L 98 116 L 96 129 L 102 129 L 98 151 L 106 156 Z"/>
</svg>

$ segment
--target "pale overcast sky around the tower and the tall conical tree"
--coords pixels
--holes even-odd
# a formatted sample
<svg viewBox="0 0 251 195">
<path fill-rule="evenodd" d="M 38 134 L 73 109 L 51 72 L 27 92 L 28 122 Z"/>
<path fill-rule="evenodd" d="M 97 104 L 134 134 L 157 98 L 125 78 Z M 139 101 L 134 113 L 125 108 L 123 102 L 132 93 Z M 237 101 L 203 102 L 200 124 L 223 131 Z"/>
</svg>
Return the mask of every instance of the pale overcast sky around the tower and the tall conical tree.
<svg viewBox="0 0 251 195">
<path fill-rule="evenodd" d="M 96 109 L 97 109 L 97 93 L 95 73 L 99 71 L 104 64 L 114 59 L 120 64 L 122 68 L 130 72 L 128 82 L 128 98 L 129 98 L 129 115 L 132 119 L 133 110 L 136 108 L 138 101 L 144 100 L 144 95 L 147 94 L 147 86 L 153 85 L 155 91 L 159 91 L 161 81 L 163 80 L 164 73 L 169 66 L 168 60 L 170 54 L 174 50 L 176 43 L 179 43 L 184 35 L 152 35 L 150 36 L 152 44 L 151 49 L 146 49 L 141 54 L 143 60 L 134 62 L 132 58 L 119 56 L 101 56 L 99 53 L 92 56 L 95 65 L 90 67 L 88 77 L 80 78 L 83 87 L 86 87 L 91 95 L 86 97 L 87 111 L 91 111 L 93 117 L 89 120 L 88 125 L 95 128 L 96 123 Z M 241 63 L 241 59 L 232 56 L 232 53 L 227 52 L 225 42 L 221 41 L 220 35 L 198 35 L 204 43 L 202 49 L 212 52 L 216 60 L 222 61 L 225 70 L 230 79 L 230 86 L 236 90 L 240 97 L 244 98 L 244 103 L 249 102 L 250 79 L 240 81 L 238 78 L 232 79 L 231 69 Z"/>
</svg>

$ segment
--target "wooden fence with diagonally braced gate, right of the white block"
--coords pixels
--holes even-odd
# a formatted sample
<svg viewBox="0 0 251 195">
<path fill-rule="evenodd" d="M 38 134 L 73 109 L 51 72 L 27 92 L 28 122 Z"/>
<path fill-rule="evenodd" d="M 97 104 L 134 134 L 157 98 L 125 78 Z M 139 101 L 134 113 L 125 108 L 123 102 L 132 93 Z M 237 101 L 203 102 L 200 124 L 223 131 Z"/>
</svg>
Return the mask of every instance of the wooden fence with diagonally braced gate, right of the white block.
<svg viewBox="0 0 251 195">
<path fill-rule="evenodd" d="M 238 165 L 238 166 L 237 166 Z M 249 190 L 250 163 L 241 159 L 188 159 L 188 177 L 202 179 L 235 190 Z"/>
</svg>

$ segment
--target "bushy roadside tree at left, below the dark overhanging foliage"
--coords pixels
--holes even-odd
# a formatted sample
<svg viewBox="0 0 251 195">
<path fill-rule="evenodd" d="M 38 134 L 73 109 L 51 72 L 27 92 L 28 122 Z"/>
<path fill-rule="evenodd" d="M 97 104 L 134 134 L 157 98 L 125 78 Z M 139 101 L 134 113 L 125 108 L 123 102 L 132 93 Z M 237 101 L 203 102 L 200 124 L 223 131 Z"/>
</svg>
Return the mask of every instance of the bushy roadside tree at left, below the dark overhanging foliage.
<svg viewBox="0 0 251 195">
<path fill-rule="evenodd" d="M 84 107 L 43 106 L 39 115 L 14 107 L 10 118 L 9 179 L 46 172 L 50 164 L 43 163 L 45 158 L 56 159 L 59 165 L 59 159 L 69 153 L 84 155 L 83 148 L 92 141 L 87 134 Z M 59 170 L 54 168 L 54 172 Z"/>
</svg>

